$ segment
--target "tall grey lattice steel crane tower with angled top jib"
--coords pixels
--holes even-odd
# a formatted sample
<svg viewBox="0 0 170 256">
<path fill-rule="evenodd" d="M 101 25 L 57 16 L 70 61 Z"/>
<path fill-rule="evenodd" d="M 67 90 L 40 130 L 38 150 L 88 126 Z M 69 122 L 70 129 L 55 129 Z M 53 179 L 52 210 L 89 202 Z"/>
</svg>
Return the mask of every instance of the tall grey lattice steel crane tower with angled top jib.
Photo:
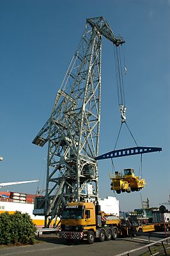
<svg viewBox="0 0 170 256">
<path fill-rule="evenodd" d="M 114 36 L 103 17 L 86 20 L 50 118 L 33 140 L 40 147 L 48 143 L 46 193 L 37 198 L 34 211 L 45 215 L 46 227 L 66 202 L 98 201 L 95 157 L 100 136 L 102 36 L 116 47 L 125 43 Z"/>
</svg>

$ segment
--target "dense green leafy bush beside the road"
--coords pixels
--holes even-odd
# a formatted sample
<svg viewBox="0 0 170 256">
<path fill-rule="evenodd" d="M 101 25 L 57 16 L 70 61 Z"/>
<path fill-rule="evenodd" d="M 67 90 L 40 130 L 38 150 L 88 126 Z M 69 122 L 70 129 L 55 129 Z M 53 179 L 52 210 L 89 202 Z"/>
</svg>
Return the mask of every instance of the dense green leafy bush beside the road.
<svg viewBox="0 0 170 256">
<path fill-rule="evenodd" d="M 29 214 L 18 211 L 0 214 L 0 244 L 34 244 L 35 232 Z"/>
</svg>

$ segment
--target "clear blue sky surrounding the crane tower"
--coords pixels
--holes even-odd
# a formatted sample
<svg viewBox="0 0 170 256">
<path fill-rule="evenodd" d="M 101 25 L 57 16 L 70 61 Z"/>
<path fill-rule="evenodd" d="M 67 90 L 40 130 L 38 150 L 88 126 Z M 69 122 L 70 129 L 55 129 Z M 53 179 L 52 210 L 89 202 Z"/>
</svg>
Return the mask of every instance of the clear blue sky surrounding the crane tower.
<svg viewBox="0 0 170 256">
<path fill-rule="evenodd" d="M 1 182 L 40 179 L 45 175 L 47 147 L 31 141 L 49 117 L 56 93 L 81 39 L 86 18 L 104 16 L 112 31 L 126 41 L 125 98 L 127 124 L 137 144 L 162 147 L 162 152 L 144 154 L 140 193 L 116 196 L 121 211 L 141 207 L 150 199 L 159 206 L 169 196 L 170 144 L 170 1 L 0 1 L 0 84 L 3 156 Z M 114 149 L 121 120 L 116 92 L 114 51 L 102 42 L 102 115 L 100 154 Z M 125 125 L 117 148 L 135 147 Z M 114 161 L 116 170 L 134 168 L 139 156 Z M 100 161 L 100 197 L 110 190 L 111 160 Z M 37 184 L 4 187 L 10 191 L 35 193 Z M 2 190 L 2 189 L 1 189 Z"/>
</svg>

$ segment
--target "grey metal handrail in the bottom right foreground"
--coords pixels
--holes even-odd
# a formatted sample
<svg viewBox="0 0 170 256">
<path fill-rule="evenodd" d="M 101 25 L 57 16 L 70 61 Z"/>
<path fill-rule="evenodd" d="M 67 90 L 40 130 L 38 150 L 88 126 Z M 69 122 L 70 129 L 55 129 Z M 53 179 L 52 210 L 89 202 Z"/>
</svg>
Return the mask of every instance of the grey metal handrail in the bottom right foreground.
<svg viewBox="0 0 170 256">
<path fill-rule="evenodd" d="M 130 253 L 134 253 L 134 252 L 137 252 L 137 251 L 139 251 L 139 250 L 143 250 L 143 249 L 145 249 L 145 248 L 148 248 L 148 250 L 150 251 L 150 255 L 151 255 L 151 256 L 158 255 L 158 253 L 153 254 L 153 253 L 151 252 L 151 246 L 153 246 L 153 245 L 155 245 L 155 244 L 158 244 L 158 243 L 162 243 L 162 246 L 163 246 L 163 248 L 164 248 L 164 250 L 162 250 L 162 252 L 164 252 L 165 255 L 167 255 L 166 250 L 169 249 L 169 247 L 166 248 L 166 247 L 164 246 L 164 242 L 166 241 L 166 243 L 167 243 L 167 240 L 168 240 L 168 239 L 170 239 L 170 237 L 166 237 L 166 238 L 161 239 L 161 240 L 159 240 L 159 241 L 156 241 L 156 242 L 154 242 L 154 243 L 146 244 L 146 245 L 141 246 L 141 247 L 139 247 L 139 248 L 137 248 L 137 249 L 130 250 L 130 251 L 128 251 L 128 252 L 119 253 L 119 254 L 116 254 L 116 255 L 114 255 L 114 256 L 123 256 L 123 255 L 130 256 Z M 167 244 L 168 244 L 168 243 L 167 243 Z"/>
</svg>

